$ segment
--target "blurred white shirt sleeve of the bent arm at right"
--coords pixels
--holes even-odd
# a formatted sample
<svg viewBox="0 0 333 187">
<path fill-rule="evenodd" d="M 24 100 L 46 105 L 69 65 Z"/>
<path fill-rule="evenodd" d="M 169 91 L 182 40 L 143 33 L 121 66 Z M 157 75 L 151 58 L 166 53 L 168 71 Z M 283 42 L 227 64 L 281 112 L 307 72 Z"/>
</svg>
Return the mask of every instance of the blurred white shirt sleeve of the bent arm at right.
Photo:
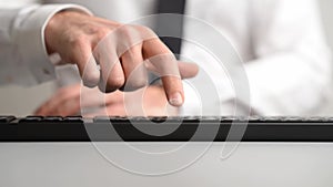
<svg viewBox="0 0 333 187">
<path fill-rule="evenodd" d="M 315 113 L 326 102 L 332 70 L 316 1 L 258 1 L 251 13 L 256 58 L 245 69 L 252 108 L 262 115 Z"/>
</svg>

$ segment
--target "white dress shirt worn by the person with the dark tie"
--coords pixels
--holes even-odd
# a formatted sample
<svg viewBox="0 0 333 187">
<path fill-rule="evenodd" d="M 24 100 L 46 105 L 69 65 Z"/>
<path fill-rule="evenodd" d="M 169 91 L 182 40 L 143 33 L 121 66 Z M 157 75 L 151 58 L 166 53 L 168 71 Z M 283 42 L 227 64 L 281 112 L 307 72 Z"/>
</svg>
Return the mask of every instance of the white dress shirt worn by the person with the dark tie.
<svg viewBox="0 0 333 187">
<path fill-rule="evenodd" d="M 44 2 L 60 4 L 1 8 L 0 3 L 0 84 L 31 85 L 56 77 L 43 41 L 43 29 L 56 12 L 90 10 L 127 23 L 153 13 L 155 6 L 154 0 Z M 185 13 L 213 25 L 238 51 L 244 61 L 251 107 L 256 114 L 304 115 L 325 102 L 331 55 L 314 0 L 188 0 Z M 193 31 L 185 23 L 185 35 L 204 33 L 204 28 Z M 214 60 L 190 42 L 183 43 L 182 54 L 200 64 Z M 224 91 L 215 104 L 231 101 L 234 93 L 231 84 L 225 83 L 226 73 L 212 70 L 212 77 Z M 191 105 L 195 98 L 191 94 L 186 103 L 185 114 L 194 114 Z"/>
</svg>

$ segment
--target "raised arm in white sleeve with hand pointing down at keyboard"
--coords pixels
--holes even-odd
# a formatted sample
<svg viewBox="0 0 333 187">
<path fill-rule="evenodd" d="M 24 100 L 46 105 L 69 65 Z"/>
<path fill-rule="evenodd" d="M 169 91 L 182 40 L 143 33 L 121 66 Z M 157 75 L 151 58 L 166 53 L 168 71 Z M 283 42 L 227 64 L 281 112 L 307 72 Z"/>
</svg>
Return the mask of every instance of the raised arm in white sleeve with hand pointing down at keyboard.
<svg viewBox="0 0 333 187">
<path fill-rule="evenodd" d="M 71 10 L 60 11 L 65 8 Z M 145 27 L 93 17 L 88 11 L 77 11 L 80 7 L 65 8 L 50 4 L 12 13 L 14 27 L 8 32 L 12 34 L 8 42 L 10 50 L 3 52 L 12 67 L 2 69 L 2 74 L 17 75 L 14 71 L 21 63 L 34 75 L 30 76 L 31 82 L 47 81 L 54 76 L 52 64 L 47 63 L 48 54 L 57 53 L 62 62 L 78 66 L 84 85 L 99 86 L 103 92 L 140 89 L 147 84 L 147 70 L 153 71 L 161 76 L 169 103 L 182 105 L 181 74 L 195 73 L 196 66 L 178 64 L 172 52 Z M 9 61 L 14 56 L 18 64 L 13 65 Z"/>
</svg>

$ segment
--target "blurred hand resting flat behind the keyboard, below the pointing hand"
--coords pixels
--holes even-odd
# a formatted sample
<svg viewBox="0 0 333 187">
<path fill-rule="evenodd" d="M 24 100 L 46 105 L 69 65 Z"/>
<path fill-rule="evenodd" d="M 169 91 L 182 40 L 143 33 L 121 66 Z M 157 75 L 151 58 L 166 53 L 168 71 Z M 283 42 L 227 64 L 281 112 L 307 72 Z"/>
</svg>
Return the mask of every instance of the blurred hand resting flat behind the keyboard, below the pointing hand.
<svg viewBox="0 0 333 187">
<path fill-rule="evenodd" d="M 141 97 L 142 101 L 140 102 Z M 132 102 L 133 100 L 135 103 Z M 129 105 L 130 107 L 127 107 Z M 131 93 L 115 91 L 103 94 L 98 89 L 88 89 L 81 84 L 75 84 L 60 89 L 34 112 L 34 115 L 69 116 L 80 115 L 81 111 L 88 111 L 82 114 L 85 117 L 107 115 L 170 116 L 178 113 L 176 107 L 168 105 L 161 86 L 149 86 Z"/>
</svg>

